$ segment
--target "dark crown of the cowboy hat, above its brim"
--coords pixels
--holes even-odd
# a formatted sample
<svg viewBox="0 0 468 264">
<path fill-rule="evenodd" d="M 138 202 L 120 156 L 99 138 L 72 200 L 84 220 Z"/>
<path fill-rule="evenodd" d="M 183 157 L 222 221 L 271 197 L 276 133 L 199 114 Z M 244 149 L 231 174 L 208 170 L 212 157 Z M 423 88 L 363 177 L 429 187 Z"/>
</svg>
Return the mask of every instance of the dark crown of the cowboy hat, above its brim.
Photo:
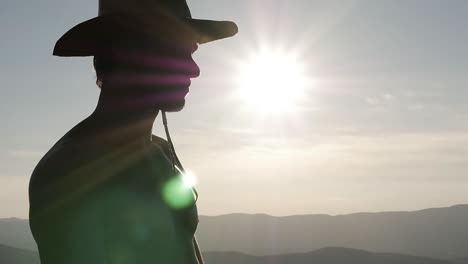
<svg viewBox="0 0 468 264">
<path fill-rule="evenodd" d="M 99 0 L 99 16 L 109 14 L 151 14 L 167 12 L 176 17 L 191 18 L 186 0 Z"/>
</svg>

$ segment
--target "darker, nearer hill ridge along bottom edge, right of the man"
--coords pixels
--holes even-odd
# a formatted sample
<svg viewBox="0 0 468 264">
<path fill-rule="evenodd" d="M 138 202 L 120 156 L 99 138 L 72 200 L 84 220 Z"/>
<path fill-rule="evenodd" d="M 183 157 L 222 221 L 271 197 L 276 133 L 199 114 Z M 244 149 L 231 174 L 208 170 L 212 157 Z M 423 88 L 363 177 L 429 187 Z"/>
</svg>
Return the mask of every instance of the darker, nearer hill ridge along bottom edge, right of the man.
<svg viewBox="0 0 468 264">
<path fill-rule="evenodd" d="M 448 260 L 348 248 L 324 248 L 309 253 L 273 256 L 251 256 L 236 252 L 207 252 L 203 256 L 207 264 L 453 264 Z"/>
</svg>

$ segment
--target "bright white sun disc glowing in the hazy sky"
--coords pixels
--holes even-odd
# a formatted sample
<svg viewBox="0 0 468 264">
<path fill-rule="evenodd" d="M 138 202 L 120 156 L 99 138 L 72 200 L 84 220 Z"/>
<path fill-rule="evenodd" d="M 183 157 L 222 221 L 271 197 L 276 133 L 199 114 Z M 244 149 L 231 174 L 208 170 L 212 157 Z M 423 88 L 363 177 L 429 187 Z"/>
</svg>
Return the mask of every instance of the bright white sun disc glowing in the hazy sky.
<svg viewBox="0 0 468 264">
<path fill-rule="evenodd" d="M 239 95 L 255 112 L 293 112 L 304 99 L 310 80 L 305 66 L 293 54 L 263 49 L 239 67 Z"/>
</svg>

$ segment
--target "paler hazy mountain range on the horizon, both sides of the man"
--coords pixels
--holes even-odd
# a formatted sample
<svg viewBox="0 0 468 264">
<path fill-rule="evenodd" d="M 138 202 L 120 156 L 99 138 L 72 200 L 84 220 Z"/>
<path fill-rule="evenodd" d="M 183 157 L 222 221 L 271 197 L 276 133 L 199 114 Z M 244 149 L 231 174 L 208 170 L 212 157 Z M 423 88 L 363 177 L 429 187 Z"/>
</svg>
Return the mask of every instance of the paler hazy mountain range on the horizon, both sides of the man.
<svg viewBox="0 0 468 264">
<path fill-rule="evenodd" d="M 197 237 L 204 251 L 277 255 L 344 247 L 468 264 L 468 205 L 340 216 L 201 216 Z M 0 219 L 0 244 L 37 250 L 28 221 L 16 218 Z"/>
</svg>

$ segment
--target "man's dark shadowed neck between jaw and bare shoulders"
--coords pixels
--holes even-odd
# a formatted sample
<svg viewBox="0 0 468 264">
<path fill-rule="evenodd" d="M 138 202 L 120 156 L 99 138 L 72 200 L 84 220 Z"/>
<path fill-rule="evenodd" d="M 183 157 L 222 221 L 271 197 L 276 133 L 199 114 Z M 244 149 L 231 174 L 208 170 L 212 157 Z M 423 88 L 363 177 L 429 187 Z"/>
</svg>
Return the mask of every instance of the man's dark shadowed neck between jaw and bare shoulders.
<svg viewBox="0 0 468 264">
<path fill-rule="evenodd" d="M 106 131 L 106 139 L 118 142 L 151 141 L 153 123 L 159 110 L 144 103 L 135 103 L 138 100 L 131 98 L 129 95 L 101 92 L 91 116 Z"/>
</svg>

